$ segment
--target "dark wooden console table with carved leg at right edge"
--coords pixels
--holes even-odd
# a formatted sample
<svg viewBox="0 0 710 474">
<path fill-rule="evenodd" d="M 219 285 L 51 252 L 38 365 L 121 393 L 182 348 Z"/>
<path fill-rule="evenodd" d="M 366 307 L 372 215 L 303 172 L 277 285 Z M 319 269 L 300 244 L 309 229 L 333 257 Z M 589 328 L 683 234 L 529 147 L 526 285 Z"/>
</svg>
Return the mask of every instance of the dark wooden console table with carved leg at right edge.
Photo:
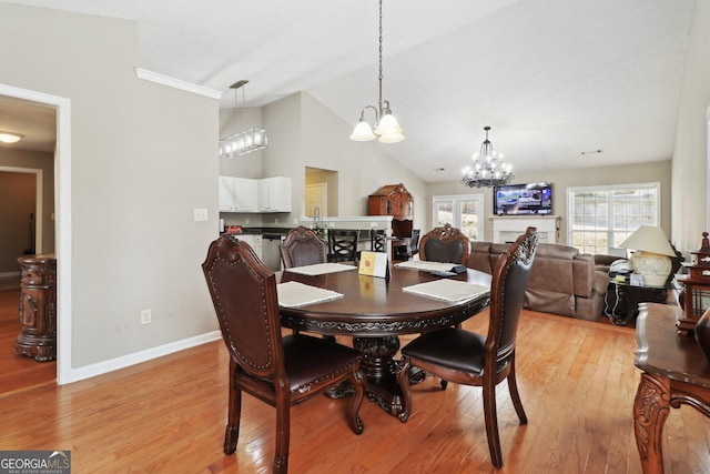
<svg viewBox="0 0 710 474">
<path fill-rule="evenodd" d="M 682 310 L 670 304 L 639 305 L 635 364 L 643 371 L 633 402 L 633 433 L 645 473 L 663 472 L 663 424 L 670 407 L 690 405 L 710 417 L 710 361 L 694 337 L 678 334 Z"/>
</svg>

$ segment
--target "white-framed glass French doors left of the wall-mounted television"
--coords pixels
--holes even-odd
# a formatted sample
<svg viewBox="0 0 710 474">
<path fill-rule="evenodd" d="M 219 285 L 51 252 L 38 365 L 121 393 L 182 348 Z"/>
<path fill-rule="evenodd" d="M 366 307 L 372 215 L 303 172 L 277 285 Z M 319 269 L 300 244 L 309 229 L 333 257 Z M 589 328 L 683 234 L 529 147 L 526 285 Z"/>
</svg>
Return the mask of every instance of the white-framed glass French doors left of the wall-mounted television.
<svg viewBox="0 0 710 474">
<path fill-rule="evenodd" d="M 450 223 L 468 239 L 477 241 L 484 235 L 484 195 L 435 195 L 432 212 L 434 226 Z"/>
</svg>

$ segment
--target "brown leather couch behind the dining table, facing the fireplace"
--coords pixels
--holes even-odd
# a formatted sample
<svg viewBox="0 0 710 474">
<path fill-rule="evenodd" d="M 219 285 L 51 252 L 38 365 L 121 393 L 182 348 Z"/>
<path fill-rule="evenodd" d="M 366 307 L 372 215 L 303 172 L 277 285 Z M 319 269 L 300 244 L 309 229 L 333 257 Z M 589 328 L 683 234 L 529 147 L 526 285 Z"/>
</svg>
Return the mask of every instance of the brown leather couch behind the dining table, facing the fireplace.
<svg viewBox="0 0 710 474">
<path fill-rule="evenodd" d="M 509 244 L 471 242 L 467 266 L 491 273 L 500 253 Z M 597 321 L 604 311 L 609 275 L 595 269 L 595 256 L 572 246 L 540 243 L 537 246 L 530 281 L 525 291 L 525 307 L 562 316 Z"/>
</svg>

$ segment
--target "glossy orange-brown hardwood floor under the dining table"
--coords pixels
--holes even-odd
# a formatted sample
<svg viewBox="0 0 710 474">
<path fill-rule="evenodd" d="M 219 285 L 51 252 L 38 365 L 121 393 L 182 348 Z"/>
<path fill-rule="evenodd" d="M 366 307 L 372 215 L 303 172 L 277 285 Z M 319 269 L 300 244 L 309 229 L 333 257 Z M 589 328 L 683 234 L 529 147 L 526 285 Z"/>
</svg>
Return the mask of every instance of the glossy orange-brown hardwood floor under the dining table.
<svg viewBox="0 0 710 474">
<path fill-rule="evenodd" d="M 486 313 L 465 326 L 485 331 Z M 500 384 L 501 472 L 640 473 L 631 410 L 639 380 L 633 330 L 525 312 L 518 341 L 529 424 L 518 425 Z M 0 372 L 14 363 L 7 357 Z M 65 386 L 33 372 L 17 375 L 28 387 L 2 379 L 0 450 L 71 450 L 75 473 L 271 472 L 275 412 L 248 395 L 237 452 L 222 453 L 227 366 L 217 341 Z M 347 427 L 343 401 L 316 396 L 293 407 L 291 472 L 496 471 L 479 389 L 449 384 L 442 391 L 427 379 L 414 389 L 414 404 L 403 424 L 365 401 L 361 436 Z M 688 406 L 671 411 L 667 473 L 710 472 L 708 420 Z"/>
</svg>

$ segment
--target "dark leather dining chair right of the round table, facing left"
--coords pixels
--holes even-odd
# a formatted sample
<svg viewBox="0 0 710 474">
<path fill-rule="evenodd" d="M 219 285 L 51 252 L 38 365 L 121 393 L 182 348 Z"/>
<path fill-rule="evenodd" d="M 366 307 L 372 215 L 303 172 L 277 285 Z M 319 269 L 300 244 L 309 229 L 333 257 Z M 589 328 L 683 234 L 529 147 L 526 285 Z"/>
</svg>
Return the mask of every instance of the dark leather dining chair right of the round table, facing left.
<svg viewBox="0 0 710 474">
<path fill-rule="evenodd" d="M 525 299 L 525 286 L 530 276 L 538 235 L 535 228 L 503 253 L 493 273 L 488 335 L 457 327 L 446 327 L 423 334 L 402 349 L 403 365 L 398 374 L 404 410 L 399 420 L 405 422 L 412 413 L 409 369 L 420 367 L 447 381 L 483 387 L 484 418 L 490 458 L 496 467 L 503 466 L 496 385 L 508 381 L 513 405 L 521 424 L 528 418 L 523 409 L 515 376 L 516 334 Z"/>
</svg>

